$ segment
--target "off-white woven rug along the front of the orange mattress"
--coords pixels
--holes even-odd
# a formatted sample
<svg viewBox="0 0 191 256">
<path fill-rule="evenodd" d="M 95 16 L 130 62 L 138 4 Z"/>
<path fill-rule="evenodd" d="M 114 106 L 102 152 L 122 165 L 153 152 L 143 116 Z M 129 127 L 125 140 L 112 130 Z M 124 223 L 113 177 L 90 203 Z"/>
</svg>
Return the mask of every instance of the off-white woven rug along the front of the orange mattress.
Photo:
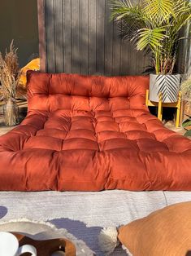
<svg viewBox="0 0 191 256">
<path fill-rule="evenodd" d="M 117 227 L 180 201 L 191 201 L 191 192 L 0 192 L 0 220 L 49 221 L 101 256 L 102 227 Z M 113 255 L 125 253 L 119 247 Z"/>
</svg>

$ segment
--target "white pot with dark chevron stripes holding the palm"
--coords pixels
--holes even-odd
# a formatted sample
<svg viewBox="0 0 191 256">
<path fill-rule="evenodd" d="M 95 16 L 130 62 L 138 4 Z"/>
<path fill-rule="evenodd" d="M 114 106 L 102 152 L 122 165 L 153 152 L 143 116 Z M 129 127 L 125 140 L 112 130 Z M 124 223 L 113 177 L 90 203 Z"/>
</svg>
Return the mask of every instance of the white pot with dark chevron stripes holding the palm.
<svg viewBox="0 0 191 256">
<path fill-rule="evenodd" d="M 155 75 L 150 74 L 150 100 L 158 102 L 159 93 L 163 94 L 163 103 L 177 101 L 180 90 L 180 74 Z"/>
</svg>

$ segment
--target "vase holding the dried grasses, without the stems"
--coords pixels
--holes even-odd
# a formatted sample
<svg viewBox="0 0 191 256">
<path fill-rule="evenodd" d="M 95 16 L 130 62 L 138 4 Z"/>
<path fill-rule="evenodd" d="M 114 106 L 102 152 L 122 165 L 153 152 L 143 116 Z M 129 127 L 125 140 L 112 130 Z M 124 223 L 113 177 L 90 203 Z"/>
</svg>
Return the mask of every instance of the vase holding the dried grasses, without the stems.
<svg viewBox="0 0 191 256">
<path fill-rule="evenodd" d="M 19 124 L 19 108 L 15 99 L 7 99 L 7 103 L 3 106 L 3 113 L 6 126 L 15 126 Z"/>
</svg>

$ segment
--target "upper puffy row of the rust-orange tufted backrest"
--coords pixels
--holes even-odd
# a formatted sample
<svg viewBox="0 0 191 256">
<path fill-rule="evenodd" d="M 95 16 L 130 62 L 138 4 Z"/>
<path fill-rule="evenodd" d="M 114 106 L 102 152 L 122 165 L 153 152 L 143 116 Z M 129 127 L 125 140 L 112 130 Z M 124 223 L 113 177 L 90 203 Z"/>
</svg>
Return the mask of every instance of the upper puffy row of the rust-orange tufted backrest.
<svg viewBox="0 0 191 256">
<path fill-rule="evenodd" d="M 144 96 L 145 90 L 148 87 L 148 77 L 100 77 L 100 76 L 82 76 L 76 74 L 46 74 L 46 73 L 33 73 L 28 75 L 28 86 L 33 90 L 32 94 L 28 94 L 29 108 L 33 108 L 31 99 L 34 95 L 40 95 L 44 91 L 44 95 L 80 95 L 92 98 L 102 97 L 131 97 L 140 95 Z M 39 84 L 35 82 L 35 78 Z M 63 80 L 62 80 L 63 79 Z M 61 81 L 63 84 L 61 86 Z M 46 86 L 43 87 L 43 86 Z M 57 86 L 57 87 L 56 87 Z M 63 90 L 62 90 L 63 87 Z M 32 89 L 33 88 L 33 89 Z M 57 89 L 59 88 L 59 89 Z M 130 89 L 129 89 L 130 88 Z M 133 104 L 134 105 L 134 104 Z M 141 106 L 145 108 L 145 101 L 141 99 Z M 40 107 L 40 105 L 39 105 Z M 133 107 L 133 106 L 132 106 Z M 48 108 L 49 109 L 49 108 Z"/>
</svg>

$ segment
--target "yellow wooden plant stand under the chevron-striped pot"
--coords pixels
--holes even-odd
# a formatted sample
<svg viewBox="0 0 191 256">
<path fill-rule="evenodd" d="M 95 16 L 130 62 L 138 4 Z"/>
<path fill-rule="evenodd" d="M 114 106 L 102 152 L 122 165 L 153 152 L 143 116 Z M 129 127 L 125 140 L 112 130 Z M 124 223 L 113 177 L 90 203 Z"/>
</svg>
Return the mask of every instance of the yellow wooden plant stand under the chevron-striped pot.
<svg viewBox="0 0 191 256">
<path fill-rule="evenodd" d="M 159 93 L 158 102 L 150 101 L 150 90 L 146 90 L 145 104 L 147 107 L 158 107 L 158 119 L 163 119 L 163 107 L 164 108 L 176 108 L 176 127 L 180 125 L 180 113 L 181 113 L 181 91 L 179 91 L 177 102 L 163 103 L 162 92 Z"/>
</svg>

